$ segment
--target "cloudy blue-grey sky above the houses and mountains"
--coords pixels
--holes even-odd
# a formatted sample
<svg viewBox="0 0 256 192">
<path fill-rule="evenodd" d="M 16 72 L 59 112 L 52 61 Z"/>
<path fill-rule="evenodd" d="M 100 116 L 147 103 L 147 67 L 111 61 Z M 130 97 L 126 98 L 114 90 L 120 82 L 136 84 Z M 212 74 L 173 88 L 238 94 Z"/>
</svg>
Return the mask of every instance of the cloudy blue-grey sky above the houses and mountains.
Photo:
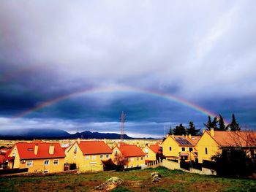
<svg viewBox="0 0 256 192">
<path fill-rule="evenodd" d="M 0 130 L 256 129 L 255 1 L 0 1 Z"/>
</svg>

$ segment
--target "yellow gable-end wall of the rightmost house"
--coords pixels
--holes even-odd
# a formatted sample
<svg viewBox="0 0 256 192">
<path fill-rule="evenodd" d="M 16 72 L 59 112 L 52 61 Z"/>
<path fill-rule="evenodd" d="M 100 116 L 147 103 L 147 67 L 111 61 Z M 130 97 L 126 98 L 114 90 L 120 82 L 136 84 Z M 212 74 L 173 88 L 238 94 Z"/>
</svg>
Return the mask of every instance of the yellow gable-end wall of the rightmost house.
<svg viewBox="0 0 256 192">
<path fill-rule="evenodd" d="M 205 132 L 197 142 L 198 162 L 203 163 L 203 160 L 211 161 L 211 157 L 217 152 L 220 152 L 217 142 L 215 142 L 214 139 Z"/>
</svg>

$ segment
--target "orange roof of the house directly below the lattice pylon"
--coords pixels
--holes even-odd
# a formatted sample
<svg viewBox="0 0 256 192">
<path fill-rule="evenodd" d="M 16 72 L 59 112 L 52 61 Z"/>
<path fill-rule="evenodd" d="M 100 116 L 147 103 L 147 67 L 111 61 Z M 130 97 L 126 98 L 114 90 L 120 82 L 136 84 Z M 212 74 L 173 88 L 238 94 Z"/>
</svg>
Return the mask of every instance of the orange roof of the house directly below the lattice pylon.
<svg viewBox="0 0 256 192">
<path fill-rule="evenodd" d="M 118 146 L 117 146 L 118 147 Z M 118 150 L 124 155 L 124 157 L 138 157 L 138 156 L 145 156 L 143 150 L 140 149 L 137 145 L 128 145 L 121 143 Z"/>
</svg>

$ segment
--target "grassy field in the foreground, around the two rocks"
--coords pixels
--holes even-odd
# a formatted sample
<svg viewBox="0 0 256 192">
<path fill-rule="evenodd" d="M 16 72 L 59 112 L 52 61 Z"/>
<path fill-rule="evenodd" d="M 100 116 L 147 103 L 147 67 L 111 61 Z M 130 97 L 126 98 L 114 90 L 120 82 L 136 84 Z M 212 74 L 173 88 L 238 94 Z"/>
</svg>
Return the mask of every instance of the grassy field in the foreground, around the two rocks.
<svg viewBox="0 0 256 192">
<path fill-rule="evenodd" d="M 151 183 L 151 172 L 162 174 L 162 182 Z M 94 191 L 97 185 L 114 176 L 123 179 L 124 184 L 113 191 L 256 191 L 256 180 L 189 174 L 163 167 L 129 172 L 0 177 L 0 191 Z"/>
</svg>

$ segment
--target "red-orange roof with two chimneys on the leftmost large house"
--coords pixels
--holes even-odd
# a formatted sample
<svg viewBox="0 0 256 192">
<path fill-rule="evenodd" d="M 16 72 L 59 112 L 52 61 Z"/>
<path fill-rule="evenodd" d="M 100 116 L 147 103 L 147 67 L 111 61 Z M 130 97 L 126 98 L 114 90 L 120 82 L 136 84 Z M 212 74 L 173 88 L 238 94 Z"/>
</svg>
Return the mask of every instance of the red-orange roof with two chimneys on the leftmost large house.
<svg viewBox="0 0 256 192">
<path fill-rule="evenodd" d="M 38 153 L 34 154 L 34 146 L 38 145 Z M 54 145 L 53 155 L 49 154 L 50 145 Z M 49 142 L 18 142 L 16 143 L 20 159 L 36 159 L 36 158 L 64 158 L 65 153 L 59 143 Z"/>
</svg>

